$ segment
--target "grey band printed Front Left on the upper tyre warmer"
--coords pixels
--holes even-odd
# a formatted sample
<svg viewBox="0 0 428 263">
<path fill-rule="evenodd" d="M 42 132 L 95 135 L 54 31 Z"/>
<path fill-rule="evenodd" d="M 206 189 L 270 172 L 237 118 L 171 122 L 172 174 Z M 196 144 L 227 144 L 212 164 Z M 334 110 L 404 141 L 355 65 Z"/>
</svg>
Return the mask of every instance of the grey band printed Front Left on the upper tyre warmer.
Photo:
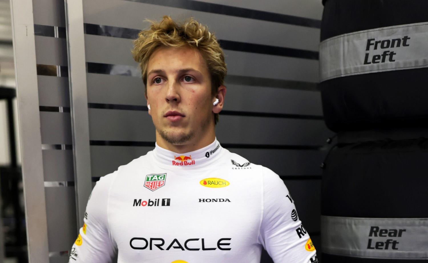
<svg viewBox="0 0 428 263">
<path fill-rule="evenodd" d="M 363 30 L 320 44 L 321 81 L 428 67 L 428 22 Z"/>
</svg>

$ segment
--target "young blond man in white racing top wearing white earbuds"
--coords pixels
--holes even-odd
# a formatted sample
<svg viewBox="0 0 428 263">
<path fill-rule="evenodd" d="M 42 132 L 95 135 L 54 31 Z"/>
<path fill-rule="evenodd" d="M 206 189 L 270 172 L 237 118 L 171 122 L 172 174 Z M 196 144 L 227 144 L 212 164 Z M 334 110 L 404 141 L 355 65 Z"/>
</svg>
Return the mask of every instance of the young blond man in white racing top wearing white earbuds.
<svg viewBox="0 0 428 263">
<path fill-rule="evenodd" d="M 102 177 L 70 262 L 317 262 L 282 180 L 221 147 L 226 64 L 213 34 L 165 16 L 134 41 L 156 147 Z"/>
</svg>

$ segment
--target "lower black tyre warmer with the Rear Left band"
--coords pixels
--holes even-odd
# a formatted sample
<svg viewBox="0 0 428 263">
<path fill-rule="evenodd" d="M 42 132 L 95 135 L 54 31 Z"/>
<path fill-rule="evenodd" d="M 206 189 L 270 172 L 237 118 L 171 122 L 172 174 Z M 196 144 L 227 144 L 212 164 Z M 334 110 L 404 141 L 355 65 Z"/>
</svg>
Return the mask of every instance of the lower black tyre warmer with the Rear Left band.
<svg viewBox="0 0 428 263">
<path fill-rule="evenodd" d="M 427 160 L 426 138 L 335 145 L 321 184 L 323 262 L 422 262 L 397 253 L 428 253 L 417 241 L 428 241 Z M 342 243 L 349 245 L 337 250 Z"/>
</svg>

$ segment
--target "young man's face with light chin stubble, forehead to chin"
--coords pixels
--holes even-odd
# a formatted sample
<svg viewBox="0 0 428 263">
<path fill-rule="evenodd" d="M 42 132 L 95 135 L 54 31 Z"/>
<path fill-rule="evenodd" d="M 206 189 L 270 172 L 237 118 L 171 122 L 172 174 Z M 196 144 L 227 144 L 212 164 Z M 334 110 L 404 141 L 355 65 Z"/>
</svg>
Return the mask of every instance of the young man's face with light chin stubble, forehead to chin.
<svg viewBox="0 0 428 263">
<path fill-rule="evenodd" d="M 172 145 L 214 132 L 211 79 L 199 50 L 160 47 L 147 66 L 147 101 L 157 135 Z M 157 137 L 158 139 L 158 137 Z"/>
</svg>

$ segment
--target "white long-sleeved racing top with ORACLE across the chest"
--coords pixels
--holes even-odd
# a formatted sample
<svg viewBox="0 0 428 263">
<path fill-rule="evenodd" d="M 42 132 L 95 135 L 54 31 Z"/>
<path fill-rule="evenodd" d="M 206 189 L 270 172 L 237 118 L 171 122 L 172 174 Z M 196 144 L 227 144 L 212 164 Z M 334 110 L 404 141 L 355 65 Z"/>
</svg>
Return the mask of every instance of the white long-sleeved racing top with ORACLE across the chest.
<svg viewBox="0 0 428 263">
<path fill-rule="evenodd" d="M 70 263 L 316 263 L 277 174 L 211 145 L 156 145 L 97 182 Z"/>
</svg>

